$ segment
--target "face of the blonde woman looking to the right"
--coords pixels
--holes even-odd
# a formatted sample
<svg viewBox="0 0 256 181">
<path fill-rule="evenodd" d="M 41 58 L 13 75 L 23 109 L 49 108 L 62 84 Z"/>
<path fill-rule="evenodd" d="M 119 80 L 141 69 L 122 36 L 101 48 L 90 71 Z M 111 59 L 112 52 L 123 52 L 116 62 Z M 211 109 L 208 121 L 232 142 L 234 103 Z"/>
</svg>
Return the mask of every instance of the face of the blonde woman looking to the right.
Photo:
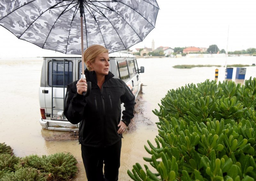
<svg viewBox="0 0 256 181">
<path fill-rule="evenodd" d="M 96 58 L 95 61 L 92 62 L 91 70 L 96 72 L 96 75 L 105 76 L 108 75 L 109 71 L 109 57 L 108 53 L 101 53 Z"/>
</svg>

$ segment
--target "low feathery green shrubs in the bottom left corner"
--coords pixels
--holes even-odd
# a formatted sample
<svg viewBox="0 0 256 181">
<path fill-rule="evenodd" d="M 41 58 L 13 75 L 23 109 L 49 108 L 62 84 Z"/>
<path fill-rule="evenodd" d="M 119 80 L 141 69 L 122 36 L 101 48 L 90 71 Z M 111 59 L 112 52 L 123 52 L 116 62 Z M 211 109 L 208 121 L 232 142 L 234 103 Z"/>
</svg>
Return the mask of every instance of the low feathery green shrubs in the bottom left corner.
<svg viewBox="0 0 256 181">
<path fill-rule="evenodd" d="M 75 177 L 76 158 L 70 153 L 49 156 L 13 155 L 12 148 L 0 143 L 0 181 L 65 181 Z"/>
</svg>

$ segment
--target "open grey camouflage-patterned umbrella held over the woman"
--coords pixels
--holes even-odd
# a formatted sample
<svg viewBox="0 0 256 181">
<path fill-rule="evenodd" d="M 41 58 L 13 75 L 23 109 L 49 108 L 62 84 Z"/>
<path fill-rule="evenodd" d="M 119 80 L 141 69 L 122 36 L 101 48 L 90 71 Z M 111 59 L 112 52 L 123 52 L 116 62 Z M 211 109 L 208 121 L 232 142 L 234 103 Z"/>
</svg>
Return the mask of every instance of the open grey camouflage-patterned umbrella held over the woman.
<svg viewBox="0 0 256 181">
<path fill-rule="evenodd" d="M 158 10 L 156 0 L 1 0 L 0 25 L 19 39 L 83 60 L 93 44 L 111 53 L 139 43 L 155 27 Z"/>
</svg>

